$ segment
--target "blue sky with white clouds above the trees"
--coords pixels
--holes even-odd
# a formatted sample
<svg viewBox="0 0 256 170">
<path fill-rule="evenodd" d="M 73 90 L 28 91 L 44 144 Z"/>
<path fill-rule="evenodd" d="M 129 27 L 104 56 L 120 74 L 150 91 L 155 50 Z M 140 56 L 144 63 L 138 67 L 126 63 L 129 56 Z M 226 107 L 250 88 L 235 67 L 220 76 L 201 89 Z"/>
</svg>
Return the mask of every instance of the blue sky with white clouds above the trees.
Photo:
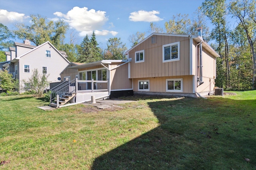
<svg viewBox="0 0 256 170">
<path fill-rule="evenodd" d="M 95 31 L 100 47 L 105 49 L 109 38 L 118 37 L 130 49 L 129 36 L 137 31 L 147 32 L 151 21 L 164 27 L 166 21 L 179 13 L 192 18 L 202 2 L 204 0 L 0 0 L 0 23 L 14 29 L 15 23 L 30 25 L 29 16 L 40 14 L 48 20 L 62 19 L 69 25 L 66 43 L 71 31 L 76 33 L 78 44 L 86 34 L 90 37 Z"/>
</svg>

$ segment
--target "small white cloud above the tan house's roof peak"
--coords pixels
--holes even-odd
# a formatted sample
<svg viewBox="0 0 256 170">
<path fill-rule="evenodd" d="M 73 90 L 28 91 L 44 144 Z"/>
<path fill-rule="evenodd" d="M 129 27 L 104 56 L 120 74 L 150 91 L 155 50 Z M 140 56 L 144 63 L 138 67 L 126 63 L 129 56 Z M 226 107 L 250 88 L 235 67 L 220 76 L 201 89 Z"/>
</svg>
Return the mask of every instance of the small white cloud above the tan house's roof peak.
<svg viewBox="0 0 256 170">
<path fill-rule="evenodd" d="M 130 21 L 146 21 L 146 22 L 155 22 L 155 21 L 161 21 L 162 18 L 159 18 L 156 16 L 156 14 L 160 14 L 158 11 L 144 11 L 140 10 L 138 12 L 132 12 L 130 13 L 129 20 Z"/>
</svg>

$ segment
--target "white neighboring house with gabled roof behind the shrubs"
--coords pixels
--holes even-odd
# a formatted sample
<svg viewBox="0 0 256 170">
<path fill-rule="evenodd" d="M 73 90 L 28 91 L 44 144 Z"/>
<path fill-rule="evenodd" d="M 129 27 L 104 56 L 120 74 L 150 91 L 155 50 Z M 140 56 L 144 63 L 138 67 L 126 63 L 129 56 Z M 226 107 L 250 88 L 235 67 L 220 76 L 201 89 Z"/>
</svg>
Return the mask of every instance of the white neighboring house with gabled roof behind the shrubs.
<svg viewBox="0 0 256 170">
<path fill-rule="evenodd" d="M 66 52 L 58 51 L 49 41 L 39 46 L 30 45 L 30 41 L 14 43 L 10 48 L 10 62 L 3 65 L 13 78 L 19 80 L 20 86 L 25 86 L 22 80 L 28 81 L 35 69 L 39 74 L 49 74 L 49 82 L 59 82 L 60 72 L 70 63 Z M 15 52 L 15 53 L 14 53 Z"/>
</svg>

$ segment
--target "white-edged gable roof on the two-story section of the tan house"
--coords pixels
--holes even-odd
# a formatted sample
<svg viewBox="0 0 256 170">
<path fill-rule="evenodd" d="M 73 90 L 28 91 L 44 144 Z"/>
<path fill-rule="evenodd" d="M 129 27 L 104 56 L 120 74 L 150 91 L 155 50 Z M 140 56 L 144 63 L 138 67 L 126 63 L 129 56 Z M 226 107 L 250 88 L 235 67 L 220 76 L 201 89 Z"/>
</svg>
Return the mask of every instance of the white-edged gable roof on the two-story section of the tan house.
<svg viewBox="0 0 256 170">
<path fill-rule="evenodd" d="M 204 41 L 204 39 L 202 39 L 202 37 L 200 37 L 199 35 L 169 34 L 169 33 L 152 33 L 152 34 L 148 35 L 148 37 L 146 37 L 142 41 L 140 41 L 138 44 L 134 45 L 131 49 L 126 51 L 125 54 L 127 55 L 132 49 L 136 48 L 138 45 L 140 45 L 141 43 L 143 43 L 144 41 L 146 41 L 147 39 L 152 37 L 152 35 L 163 35 L 163 36 L 173 36 L 173 37 L 189 37 L 190 39 L 194 39 L 196 42 L 201 42 L 202 41 L 202 44 L 203 44 L 204 48 L 206 48 L 215 57 L 220 57 L 220 55 L 208 43 L 206 43 Z"/>
</svg>

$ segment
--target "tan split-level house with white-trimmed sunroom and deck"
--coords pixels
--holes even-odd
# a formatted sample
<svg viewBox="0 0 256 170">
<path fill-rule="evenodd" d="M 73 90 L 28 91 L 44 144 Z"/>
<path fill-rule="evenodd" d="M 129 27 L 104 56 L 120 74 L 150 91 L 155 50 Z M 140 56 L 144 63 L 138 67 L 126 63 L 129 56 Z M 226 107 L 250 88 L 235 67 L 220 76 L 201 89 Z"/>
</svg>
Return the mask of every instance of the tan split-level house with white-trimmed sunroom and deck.
<svg viewBox="0 0 256 170">
<path fill-rule="evenodd" d="M 213 93 L 216 57 L 220 56 L 201 33 L 202 29 L 198 35 L 152 33 L 126 51 L 127 60 L 72 65 L 62 71 L 61 79 L 77 77 L 73 90 L 83 97 L 76 102 L 92 100 L 92 95 L 102 91 L 99 84 L 104 80 L 108 86 L 104 88 L 108 91 L 104 97 L 110 98 L 132 94 L 205 96 Z"/>
</svg>

